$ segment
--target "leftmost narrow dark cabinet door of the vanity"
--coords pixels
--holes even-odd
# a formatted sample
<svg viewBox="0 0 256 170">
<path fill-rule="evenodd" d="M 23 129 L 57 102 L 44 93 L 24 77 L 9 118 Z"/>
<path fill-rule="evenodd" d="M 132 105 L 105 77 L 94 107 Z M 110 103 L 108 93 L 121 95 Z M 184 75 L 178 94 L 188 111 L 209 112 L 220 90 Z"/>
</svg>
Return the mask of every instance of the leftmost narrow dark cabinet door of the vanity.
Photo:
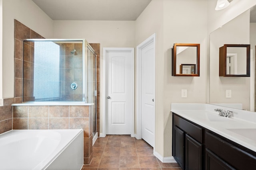
<svg viewBox="0 0 256 170">
<path fill-rule="evenodd" d="M 184 134 L 182 130 L 174 126 L 172 156 L 182 169 L 184 168 Z"/>
</svg>

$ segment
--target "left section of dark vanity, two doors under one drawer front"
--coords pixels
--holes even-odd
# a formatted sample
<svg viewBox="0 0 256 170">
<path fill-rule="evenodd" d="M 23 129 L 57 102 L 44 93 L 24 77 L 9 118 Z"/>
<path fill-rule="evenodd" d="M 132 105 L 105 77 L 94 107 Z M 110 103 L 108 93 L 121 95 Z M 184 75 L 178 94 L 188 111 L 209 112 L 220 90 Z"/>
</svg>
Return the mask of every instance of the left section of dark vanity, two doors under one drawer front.
<svg viewBox="0 0 256 170">
<path fill-rule="evenodd" d="M 202 128 L 173 115 L 172 155 L 183 170 L 202 170 Z"/>
</svg>

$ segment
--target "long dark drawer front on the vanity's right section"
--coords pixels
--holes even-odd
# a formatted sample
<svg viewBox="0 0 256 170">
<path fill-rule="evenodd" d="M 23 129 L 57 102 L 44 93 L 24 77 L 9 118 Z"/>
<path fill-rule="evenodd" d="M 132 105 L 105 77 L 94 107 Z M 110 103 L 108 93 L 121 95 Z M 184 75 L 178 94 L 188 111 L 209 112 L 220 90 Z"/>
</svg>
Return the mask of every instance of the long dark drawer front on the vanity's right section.
<svg viewBox="0 0 256 170">
<path fill-rule="evenodd" d="M 207 130 L 205 132 L 205 147 L 238 170 L 256 167 L 256 156 L 246 152 L 246 148 L 238 144 L 233 145 L 224 137 Z"/>
</svg>

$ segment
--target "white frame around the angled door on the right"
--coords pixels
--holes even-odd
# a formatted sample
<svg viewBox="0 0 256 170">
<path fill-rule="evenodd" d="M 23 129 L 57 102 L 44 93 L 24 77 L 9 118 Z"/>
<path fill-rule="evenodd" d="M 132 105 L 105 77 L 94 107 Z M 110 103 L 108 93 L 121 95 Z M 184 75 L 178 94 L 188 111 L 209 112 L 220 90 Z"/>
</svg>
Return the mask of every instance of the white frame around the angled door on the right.
<svg viewBox="0 0 256 170">
<path fill-rule="evenodd" d="M 142 139 L 142 48 L 153 42 L 154 46 L 154 63 L 156 63 L 156 33 L 148 37 L 145 41 L 140 43 L 136 49 L 136 139 Z M 156 77 L 156 70 L 154 68 L 154 76 Z M 156 95 L 156 94 L 155 94 Z M 156 101 L 156 99 L 155 99 Z M 156 115 L 156 111 L 155 111 Z M 154 146 L 156 143 L 156 121 L 154 132 Z"/>
</svg>

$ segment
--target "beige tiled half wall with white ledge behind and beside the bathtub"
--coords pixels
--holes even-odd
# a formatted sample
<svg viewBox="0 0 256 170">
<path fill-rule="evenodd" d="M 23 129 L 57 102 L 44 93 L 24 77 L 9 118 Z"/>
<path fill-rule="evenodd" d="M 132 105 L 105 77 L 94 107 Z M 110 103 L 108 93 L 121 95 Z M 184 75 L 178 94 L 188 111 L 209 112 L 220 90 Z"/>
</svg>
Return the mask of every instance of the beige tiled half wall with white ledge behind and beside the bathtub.
<svg viewBox="0 0 256 170">
<path fill-rule="evenodd" d="M 13 129 L 83 129 L 84 164 L 89 164 L 92 160 L 93 106 L 83 102 L 13 104 Z"/>
</svg>

